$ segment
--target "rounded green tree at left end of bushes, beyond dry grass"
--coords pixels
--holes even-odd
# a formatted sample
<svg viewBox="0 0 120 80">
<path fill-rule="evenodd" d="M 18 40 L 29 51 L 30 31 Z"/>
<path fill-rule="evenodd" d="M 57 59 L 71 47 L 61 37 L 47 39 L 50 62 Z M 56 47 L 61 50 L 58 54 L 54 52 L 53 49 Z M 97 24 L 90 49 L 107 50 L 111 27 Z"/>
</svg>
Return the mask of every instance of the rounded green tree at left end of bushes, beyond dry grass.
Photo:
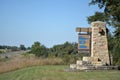
<svg viewBox="0 0 120 80">
<path fill-rule="evenodd" d="M 48 55 L 47 48 L 36 41 L 31 47 L 31 52 L 38 57 L 46 57 Z"/>
</svg>

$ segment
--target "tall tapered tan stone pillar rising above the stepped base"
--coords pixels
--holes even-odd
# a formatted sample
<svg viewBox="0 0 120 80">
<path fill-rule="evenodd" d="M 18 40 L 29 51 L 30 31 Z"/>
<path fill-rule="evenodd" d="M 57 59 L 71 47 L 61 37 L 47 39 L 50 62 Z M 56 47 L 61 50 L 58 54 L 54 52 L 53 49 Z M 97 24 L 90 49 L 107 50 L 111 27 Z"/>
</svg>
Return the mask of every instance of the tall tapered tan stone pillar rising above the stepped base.
<svg viewBox="0 0 120 80">
<path fill-rule="evenodd" d="M 91 62 L 94 64 L 110 65 L 106 24 L 101 21 L 92 22 L 91 28 Z"/>
</svg>

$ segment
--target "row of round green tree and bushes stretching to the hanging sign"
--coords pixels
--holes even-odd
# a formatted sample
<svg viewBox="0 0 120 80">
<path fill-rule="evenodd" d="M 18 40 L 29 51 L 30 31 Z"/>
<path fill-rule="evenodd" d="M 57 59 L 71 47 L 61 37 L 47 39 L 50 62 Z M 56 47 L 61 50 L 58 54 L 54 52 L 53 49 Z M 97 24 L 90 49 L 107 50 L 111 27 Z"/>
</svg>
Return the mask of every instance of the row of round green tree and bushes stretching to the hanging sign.
<svg viewBox="0 0 120 80">
<path fill-rule="evenodd" d="M 52 48 L 47 48 L 40 42 L 36 41 L 31 46 L 30 53 L 42 58 L 62 58 L 65 63 L 73 63 L 78 58 L 77 43 L 65 42 L 64 44 L 54 45 Z"/>
</svg>

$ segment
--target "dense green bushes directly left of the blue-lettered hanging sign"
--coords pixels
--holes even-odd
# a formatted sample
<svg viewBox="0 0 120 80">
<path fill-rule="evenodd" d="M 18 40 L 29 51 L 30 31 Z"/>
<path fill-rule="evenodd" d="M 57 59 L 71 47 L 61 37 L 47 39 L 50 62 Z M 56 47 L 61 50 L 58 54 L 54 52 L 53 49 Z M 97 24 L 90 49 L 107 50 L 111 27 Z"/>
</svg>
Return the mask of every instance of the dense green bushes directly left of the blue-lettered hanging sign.
<svg viewBox="0 0 120 80">
<path fill-rule="evenodd" d="M 65 42 L 64 44 L 55 45 L 49 50 L 49 55 L 60 57 L 65 64 L 73 63 L 77 60 L 77 43 Z"/>
</svg>

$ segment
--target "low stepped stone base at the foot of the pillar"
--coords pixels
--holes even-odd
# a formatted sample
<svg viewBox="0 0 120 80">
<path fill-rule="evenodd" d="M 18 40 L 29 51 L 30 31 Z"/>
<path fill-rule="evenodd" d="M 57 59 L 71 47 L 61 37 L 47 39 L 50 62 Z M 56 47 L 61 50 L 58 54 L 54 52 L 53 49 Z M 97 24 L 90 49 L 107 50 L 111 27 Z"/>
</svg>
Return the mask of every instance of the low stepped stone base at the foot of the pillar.
<svg viewBox="0 0 120 80">
<path fill-rule="evenodd" d="M 118 66 L 105 66 L 102 62 L 97 62 L 95 65 L 87 60 L 77 60 L 76 64 L 70 64 L 70 70 L 84 71 L 84 70 L 118 70 Z"/>
</svg>

